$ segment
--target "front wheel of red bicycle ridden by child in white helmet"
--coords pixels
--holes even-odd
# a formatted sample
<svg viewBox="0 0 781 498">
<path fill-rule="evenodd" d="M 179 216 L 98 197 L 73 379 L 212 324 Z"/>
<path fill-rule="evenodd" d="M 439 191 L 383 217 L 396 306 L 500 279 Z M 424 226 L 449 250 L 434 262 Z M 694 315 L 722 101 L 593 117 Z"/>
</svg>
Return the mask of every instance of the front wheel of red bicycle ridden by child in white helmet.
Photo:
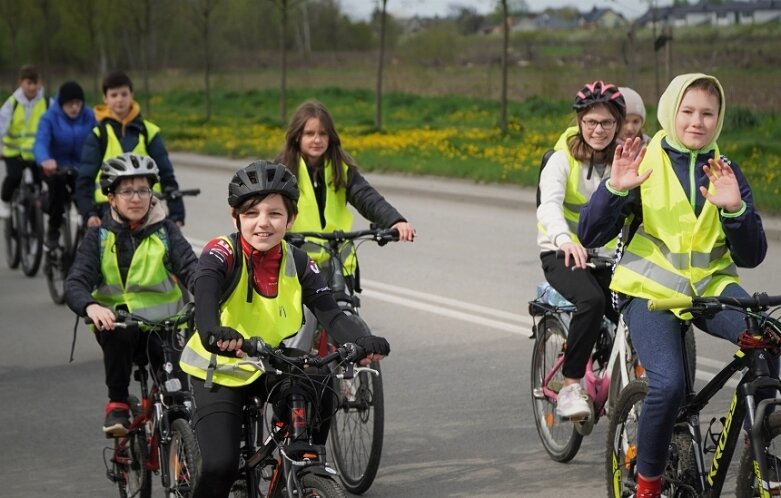
<svg viewBox="0 0 781 498">
<path fill-rule="evenodd" d="M 201 472 L 201 452 L 193 429 L 187 420 L 179 418 L 171 424 L 168 452 L 169 498 L 189 498 Z"/>
</svg>

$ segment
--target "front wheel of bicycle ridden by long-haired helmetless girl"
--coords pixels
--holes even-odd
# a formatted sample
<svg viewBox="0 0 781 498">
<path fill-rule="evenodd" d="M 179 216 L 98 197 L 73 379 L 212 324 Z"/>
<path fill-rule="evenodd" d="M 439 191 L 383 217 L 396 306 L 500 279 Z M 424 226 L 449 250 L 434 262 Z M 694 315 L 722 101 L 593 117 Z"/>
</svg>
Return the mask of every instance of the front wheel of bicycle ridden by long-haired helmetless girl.
<svg viewBox="0 0 781 498">
<path fill-rule="evenodd" d="M 365 332 L 368 325 L 350 315 Z M 380 371 L 377 362 L 371 368 Z M 350 493 L 365 493 L 380 468 L 385 432 L 385 397 L 382 375 L 361 372 L 352 380 L 335 379 L 339 406 L 329 434 L 329 454 L 339 477 Z"/>
</svg>

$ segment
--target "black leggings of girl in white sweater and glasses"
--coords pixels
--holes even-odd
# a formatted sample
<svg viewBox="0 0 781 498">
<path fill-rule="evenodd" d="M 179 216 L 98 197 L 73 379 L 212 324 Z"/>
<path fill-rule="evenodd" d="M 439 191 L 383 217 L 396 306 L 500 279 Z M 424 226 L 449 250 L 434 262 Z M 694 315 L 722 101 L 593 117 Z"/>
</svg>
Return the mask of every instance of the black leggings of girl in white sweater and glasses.
<svg viewBox="0 0 781 498">
<path fill-rule="evenodd" d="M 575 305 L 567 336 L 567 352 L 562 374 L 570 379 L 581 379 L 586 374 L 586 363 L 599 338 L 602 315 L 613 321 L 618 313 L 610 299 L 609 269 L 601 271 L 572 270 L 564 266 L 564 257 L 555 252 L 540 254 L 545 279 L 559 294 Z M 571 261 L 570 261 L 571 264 Z"/>
</svg>

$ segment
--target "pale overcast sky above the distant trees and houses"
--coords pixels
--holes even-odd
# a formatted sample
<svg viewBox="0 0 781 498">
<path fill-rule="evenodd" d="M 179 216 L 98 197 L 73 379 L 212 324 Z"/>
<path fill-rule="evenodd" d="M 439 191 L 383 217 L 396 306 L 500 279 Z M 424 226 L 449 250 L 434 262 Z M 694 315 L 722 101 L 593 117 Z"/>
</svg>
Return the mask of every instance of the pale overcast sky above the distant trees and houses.
<svg viewBox="0 0 781 498">
<path fill-rule="evenodd" d="M 532 11 L 544 10 L 548 7 L 578 6 L 581 12 L 591 10 L 592 7 L 611 7 L 624 14 L 624 17 L 634 19 L 646 10 L 651 1 L 656 5 L 670 5 L 672 0 L 526 0 L 526 4 Z M 512 3 L 512 0 L 510 0 Z M 368 19 L 378 0 L 341 0 L 342 8 L 353 19 Z M 444 17 L 450 12 L 453 5 L 473 7 L 480 13 L 493 10 L 497 0 L 388 0 L 388 12 L 398 17 L 410 17 L 414 15 Z"/>
</svg>

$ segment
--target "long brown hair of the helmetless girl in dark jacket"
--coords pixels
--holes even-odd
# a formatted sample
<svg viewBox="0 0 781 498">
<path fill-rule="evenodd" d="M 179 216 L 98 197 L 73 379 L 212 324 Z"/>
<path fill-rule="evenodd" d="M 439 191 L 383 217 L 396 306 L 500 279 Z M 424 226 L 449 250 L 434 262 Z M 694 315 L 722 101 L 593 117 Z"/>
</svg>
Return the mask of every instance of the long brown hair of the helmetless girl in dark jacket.
<svg viewBox="0 0 781 498">
<path fill-rule="evenodd" d="M 331 161 L 333 166 L 331 168 L 333 170 L 333 177 L 331 178 L 333 186 L 336 190 L 345 188 L 347 186 L 347 178 L 344 178 L 342 174 L 342 164 L 346 164 L 348 168 L 357 168 L 358 166 L 353 158 L 350 157 L 350 154 L 342 149 L 342 140 L 336 132 L 331 113 L 317 100 L 307 100 L 296 109 L 285 133 L 285 148 L 277 156 L 276 162 L 284 164 L 293 174 L 298 174 L 296 170 L 301 159 L 301 135 L 304 133 L 306 122 L 312 118 L 319 119 L 320 125 L 325 128 L 328 134 L 328 149 L 323 154 L 323 159 Z M 321 160 L 320 164 L 308 164 L 308 166 L 323 167 L 323 162 Z"/>
</svg>

